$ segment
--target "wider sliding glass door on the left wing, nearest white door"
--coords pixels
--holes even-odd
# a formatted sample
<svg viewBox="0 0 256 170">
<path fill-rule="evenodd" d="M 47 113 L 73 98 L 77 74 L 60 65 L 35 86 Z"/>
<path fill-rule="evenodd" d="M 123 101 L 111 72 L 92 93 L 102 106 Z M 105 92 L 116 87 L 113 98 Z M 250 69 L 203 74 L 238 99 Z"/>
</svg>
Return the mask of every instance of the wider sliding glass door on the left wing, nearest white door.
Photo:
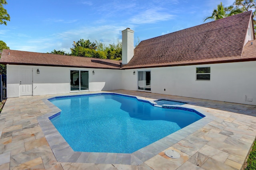
<svg viewBox="0 0 256 170">
<path fill-rule="evenodd" d="M 70 70 L 70 91 L 89 90 L 88 71 Z"/>
</svg>

